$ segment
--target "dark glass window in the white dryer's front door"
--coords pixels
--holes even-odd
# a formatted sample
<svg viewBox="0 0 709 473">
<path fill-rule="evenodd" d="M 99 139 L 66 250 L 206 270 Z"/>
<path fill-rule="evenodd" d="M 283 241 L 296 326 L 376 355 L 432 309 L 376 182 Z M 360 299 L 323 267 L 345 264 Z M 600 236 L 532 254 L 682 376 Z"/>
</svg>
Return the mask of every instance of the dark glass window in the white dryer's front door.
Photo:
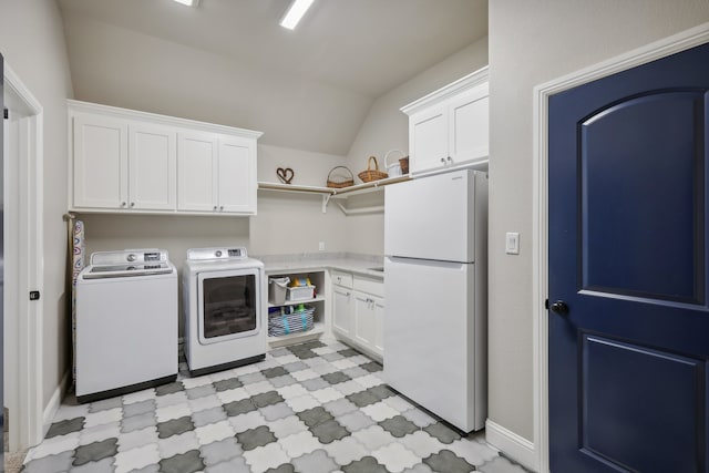
<svg viewBox="0 0 709 473">
<path fill-rule="evenodd" d="M 256 271 L 214 273 L 199 279 L 201 343 L 258 332 L 260 286 Z"/>
</svg>

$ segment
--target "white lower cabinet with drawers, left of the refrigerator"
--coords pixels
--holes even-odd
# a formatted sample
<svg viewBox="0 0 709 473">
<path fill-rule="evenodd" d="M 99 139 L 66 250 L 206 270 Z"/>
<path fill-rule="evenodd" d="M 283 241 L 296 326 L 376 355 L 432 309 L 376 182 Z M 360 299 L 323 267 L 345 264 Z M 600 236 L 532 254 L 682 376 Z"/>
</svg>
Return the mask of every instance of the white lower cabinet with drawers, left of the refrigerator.
<svg viewBox="0 0 709 473">
<path fill-rule="evenodd" d="M 332 332 L 377 358 L 384 354 L 383 280 L 333 271 Z"/>
</svg>

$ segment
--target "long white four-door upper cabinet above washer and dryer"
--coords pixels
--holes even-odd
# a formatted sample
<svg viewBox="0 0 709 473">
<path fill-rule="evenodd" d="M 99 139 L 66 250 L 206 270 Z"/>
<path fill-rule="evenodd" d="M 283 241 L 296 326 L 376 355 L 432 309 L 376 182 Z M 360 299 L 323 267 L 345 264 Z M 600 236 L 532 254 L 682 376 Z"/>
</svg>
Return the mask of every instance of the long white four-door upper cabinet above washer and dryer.
<svg viewBox="0 0 709 473">
<path fill-rule="evenodd" d="M 69 101 L 81 212 L 255 215 L 259 132 Z"/>
</svg>

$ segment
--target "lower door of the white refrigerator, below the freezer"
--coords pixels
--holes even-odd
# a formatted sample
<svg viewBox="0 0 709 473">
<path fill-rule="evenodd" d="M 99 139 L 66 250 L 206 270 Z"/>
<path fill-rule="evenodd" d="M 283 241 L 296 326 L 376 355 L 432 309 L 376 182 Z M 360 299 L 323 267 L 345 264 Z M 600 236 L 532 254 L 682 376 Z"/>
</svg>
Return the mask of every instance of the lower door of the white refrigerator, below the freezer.
<svg viewBox="0 0 709 473">
<path fill-rule="evenodd" d="M 384 274 L 386 382 L 462 431 L 482 429 L 486 328 L 475 265 L 387 257 Z"/>
</svg>

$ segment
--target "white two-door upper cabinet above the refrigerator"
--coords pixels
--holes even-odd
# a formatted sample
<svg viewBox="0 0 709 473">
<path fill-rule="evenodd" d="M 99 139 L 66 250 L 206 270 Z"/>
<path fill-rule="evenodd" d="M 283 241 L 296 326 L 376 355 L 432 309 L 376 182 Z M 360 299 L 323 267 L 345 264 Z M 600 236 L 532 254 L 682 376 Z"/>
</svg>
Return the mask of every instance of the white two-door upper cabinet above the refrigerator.
<svg viewBox="0 0 709 473">
<path fill-rule="evenodd" d="M 404 107 L 409 172 L 420 175 L 489 162 L 489 82 L 483 68 Z"/>
</svg>

